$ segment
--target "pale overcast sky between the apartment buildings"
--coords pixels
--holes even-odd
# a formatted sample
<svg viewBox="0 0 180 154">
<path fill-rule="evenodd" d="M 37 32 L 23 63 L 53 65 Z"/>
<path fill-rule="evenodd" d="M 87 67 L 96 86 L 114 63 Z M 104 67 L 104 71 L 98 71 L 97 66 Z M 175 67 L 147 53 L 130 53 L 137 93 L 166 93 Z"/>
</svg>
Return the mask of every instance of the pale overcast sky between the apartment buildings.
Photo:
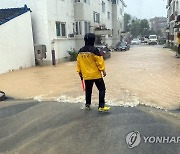
<svg viewBox="0 0 180 154">
<path fill-rule="evenodd" d="M 167 0 L 124 0 L 125 12 L 139 19 L 166 17 Z"/>
</svg>

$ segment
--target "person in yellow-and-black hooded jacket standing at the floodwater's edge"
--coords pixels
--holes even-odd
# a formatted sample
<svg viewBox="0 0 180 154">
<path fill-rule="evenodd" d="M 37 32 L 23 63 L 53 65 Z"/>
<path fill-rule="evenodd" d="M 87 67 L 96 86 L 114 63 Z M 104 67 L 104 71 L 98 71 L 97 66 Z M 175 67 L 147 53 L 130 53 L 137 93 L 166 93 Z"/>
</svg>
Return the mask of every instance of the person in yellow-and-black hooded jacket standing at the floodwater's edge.
<svg viewBox="0 0 180 154">
<path fill-rule="evenodd" d="M 110 107 L 105 106 L 105 83 L 103 76 L 106 76 L 105 63 L 99 50 L 94 47 L 95 34 L 87 33 L 84 36 L 85 46 L 83 46 L 77 56 L 77 72 L 85 81 L 86 109 L 90 109 L 93 84 L 99 90 L 98 110 L 108 111 Z M 103 75 L 103 76 L 102 76 Z"/>
</svg>

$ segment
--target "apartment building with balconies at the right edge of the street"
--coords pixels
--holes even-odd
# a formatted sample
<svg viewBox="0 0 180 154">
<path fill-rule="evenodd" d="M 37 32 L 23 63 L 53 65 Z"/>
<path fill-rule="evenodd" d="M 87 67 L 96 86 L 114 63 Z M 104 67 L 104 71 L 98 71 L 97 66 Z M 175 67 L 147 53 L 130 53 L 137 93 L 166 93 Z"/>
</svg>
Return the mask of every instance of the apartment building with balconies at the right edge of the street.
<svg viewBox="0 0 180 154">
<path fill-rule="evenodd" d="M 177 45 L 177 32 L 180 32 L 180 0 L 167 0 L 167 41 Z"/>
</svg>

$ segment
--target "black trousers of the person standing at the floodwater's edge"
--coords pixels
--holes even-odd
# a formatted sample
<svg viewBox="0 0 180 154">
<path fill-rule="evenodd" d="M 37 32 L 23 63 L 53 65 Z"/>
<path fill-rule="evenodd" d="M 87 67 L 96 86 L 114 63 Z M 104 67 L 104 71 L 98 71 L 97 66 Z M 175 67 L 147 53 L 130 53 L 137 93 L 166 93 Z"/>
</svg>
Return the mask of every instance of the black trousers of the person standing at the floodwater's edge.
<svg viewBox="0 0 180 154">
<path fill-rule="evenodd" d="M 94 79 L 94 80 L 85 80 L 86 85 L 86 105 L 91 105 L 91 95 L 92 95 L 92 88 L 93 84 L 95 82 L 95 85 L 97 89 L 99 90 L 99 107 L 104 107 L 105 104 L 105 84 L 103 78 L 100 79 Z"/>
</svg>

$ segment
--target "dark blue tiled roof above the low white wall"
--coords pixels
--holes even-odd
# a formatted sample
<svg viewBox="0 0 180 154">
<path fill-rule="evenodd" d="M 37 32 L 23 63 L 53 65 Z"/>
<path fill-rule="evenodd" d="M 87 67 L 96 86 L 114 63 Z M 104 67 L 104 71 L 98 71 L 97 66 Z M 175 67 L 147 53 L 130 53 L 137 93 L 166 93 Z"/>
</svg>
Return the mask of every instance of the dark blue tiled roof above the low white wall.
<svg viewBox="0 0 180 154">
<path fill-rule="evenodd" d="M 27 7 L 27 5 L 24 5 L 24 7 L 22 8 L 0 9 L 0 25 L 28 11 L 31 11 L 31 10 Z"/>
</svg>

